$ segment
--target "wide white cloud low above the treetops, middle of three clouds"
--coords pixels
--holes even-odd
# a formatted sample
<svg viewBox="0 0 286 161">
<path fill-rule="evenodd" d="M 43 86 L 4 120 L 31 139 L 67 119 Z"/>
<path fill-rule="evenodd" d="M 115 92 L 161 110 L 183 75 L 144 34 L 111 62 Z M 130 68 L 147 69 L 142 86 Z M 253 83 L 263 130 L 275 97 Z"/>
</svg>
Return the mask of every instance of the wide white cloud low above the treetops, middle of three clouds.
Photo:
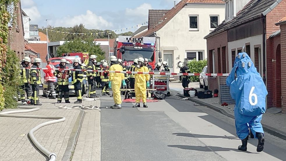
<svg viewBox="0 0 286 161">
<path fill-rule="evenodd" d="M 80 23 L 84 24 L 87 29 L 106 29 L 113 26 L 111 22 L 108 22 L 102 16 L 98 16 L 90 10 L 87 10 L 86 14 L 76 15 L 74 17 L 67 16 L 51 21 L 52 26 L 63 27 L 72 27 Z"/>
</svg>

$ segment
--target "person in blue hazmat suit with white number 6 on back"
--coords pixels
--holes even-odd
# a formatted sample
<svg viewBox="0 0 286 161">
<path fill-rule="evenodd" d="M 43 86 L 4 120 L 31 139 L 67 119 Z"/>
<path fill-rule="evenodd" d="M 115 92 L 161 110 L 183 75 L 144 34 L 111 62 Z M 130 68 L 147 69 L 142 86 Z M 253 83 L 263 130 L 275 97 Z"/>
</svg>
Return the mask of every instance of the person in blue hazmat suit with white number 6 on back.
<svg viewBox="0 0 286 161">
<path fill-rule="evenodd" d="M 262 114 L 266 110 L 266 86 L 246 53 L 239 53 L 234 67 L 226 80 L 230 94 L 235 100 L 235 127 L 242 145 L 241 151 L 247 151 L 250 128 L 254 138 L 258 139 L 257 152 L 264 148 L 264 132 L 261 125 Z"/>
</svg>

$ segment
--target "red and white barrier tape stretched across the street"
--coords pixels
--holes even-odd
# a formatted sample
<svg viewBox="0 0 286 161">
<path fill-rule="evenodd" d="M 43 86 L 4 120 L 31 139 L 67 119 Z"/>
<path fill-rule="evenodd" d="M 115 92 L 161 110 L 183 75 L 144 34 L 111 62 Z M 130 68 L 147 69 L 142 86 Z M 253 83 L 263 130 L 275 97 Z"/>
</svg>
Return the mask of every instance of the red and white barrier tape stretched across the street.
<svg viewBox="0 0 286 161">
<path fill-rule="evenodd" d="M 22 68 L 25 69 L 25 68 Z M 26 69 L 39 69 L 39 70 L 51 70 L 48 68 L 26 68 Z M 104 70 L 84 70 L 84 69 L 59 69 L 56 68 L 55 70 L 70 70 L 70 71 L 87 71 L 87 72 L 105 72 L 105 73 L 124 73 L 124 74 L 151 74 L 151 75 L 187 75 L 187 76 L 228 76 L 228 73 L 207 73 L 207 74 L 201 74 L 201 73 L 167 73 L 167 72 L 129 72 L 129 71 L 104 71 Z"/>
</svg>

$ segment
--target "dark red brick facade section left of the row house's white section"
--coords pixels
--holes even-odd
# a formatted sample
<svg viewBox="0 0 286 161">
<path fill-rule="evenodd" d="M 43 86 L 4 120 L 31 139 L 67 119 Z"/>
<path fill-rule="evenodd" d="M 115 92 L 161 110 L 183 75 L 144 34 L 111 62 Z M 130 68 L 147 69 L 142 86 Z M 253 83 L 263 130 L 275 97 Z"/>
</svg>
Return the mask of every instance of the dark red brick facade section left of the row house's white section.
<svg viewBox="0 0 286 161">
<path fill-rule="evenodd" d="M 219 71 L 218 67 L 218 48 L 220 48 L 220 51 L 222 51 L 222 47 L 225 46 L 225 52 L 228 53 L 228 33 L 225 31 L 223 33 L 217 34 L 215 36 L 212 36 L 207 39 L 207 52 L 209 53 L 210 50 L 214 50 L 214 63 L 215 63 L 215 73 Z M 211 54 L 209 54 L 211 55 Z M 224 59 L 220 59 L 220 64 L 223 64 Z M 227 72 L 228 72 L 228 54 L 226 54 L 226 66 L 227 66 Z M 208 65 L 208 73 L 211 73 L 210 71 L 212 68 L 212 58 L 208 57 L 207 61 Z M 220 71 L 223 71 L 223 66 L 221 66 Z M 219 89 L 218 87 L 218 79 L 217 77 L 208 77 L 208 83 L 209 83 L 209 89 Z"/>
</svg>

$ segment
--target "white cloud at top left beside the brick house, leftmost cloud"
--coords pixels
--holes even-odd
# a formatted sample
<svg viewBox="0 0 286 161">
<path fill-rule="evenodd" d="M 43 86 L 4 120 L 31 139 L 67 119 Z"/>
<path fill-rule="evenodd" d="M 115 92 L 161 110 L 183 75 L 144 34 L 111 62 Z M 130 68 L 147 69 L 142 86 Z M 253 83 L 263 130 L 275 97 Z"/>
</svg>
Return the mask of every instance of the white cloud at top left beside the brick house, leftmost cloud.
<svg viewBox="0 0 286 161">
<path fill-rule="evenodd" d="M 32 22 L 38 22 L 41 18 L 35 2 L 33 0 L 21 0 L 22 10 L 29 16 Z"/>
</svg>

